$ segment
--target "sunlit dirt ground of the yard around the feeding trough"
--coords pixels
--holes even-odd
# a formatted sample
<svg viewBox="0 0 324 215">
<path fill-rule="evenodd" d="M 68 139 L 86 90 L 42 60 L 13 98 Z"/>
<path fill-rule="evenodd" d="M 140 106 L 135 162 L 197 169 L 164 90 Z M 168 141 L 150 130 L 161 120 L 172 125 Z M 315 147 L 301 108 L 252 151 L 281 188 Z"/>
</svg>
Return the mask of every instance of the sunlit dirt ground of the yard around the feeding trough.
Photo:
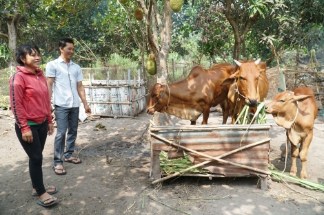
<svg viewBox="0 0 324 215">
<path fill-rule="evenodd" d="M 270 183 L 269 190 L 263 191 L 256 187 L 257 177 L 212 180 L 179 177 L 165 181 L 161 188 L 154 188 L 148 177 L 150 144 L 143 135 L 151 118 L 141 113 L 135 119 L 100 118 L 80 124 L 74 156 L 79 156 L 83 162 L 79 165 L 65 163 L 68 174 L 64 176 L 52 170 L 54 135 L 48 137 L 43 151 L 44 183 L 59 189 L 54 194 L 59 203 L 51 207 L 37 205 L 37 197 L 31 196 L 28 157 L 12 128 L 14 120 L 0 118 L 0 214 L 324 214 L 324 204 L 320 202 L 324 202 L 323 192 L 291 185 L 308 195 L 305 196 L 275 181 Z M 280 156 L 285 132 L 276 126 L 272 115 L 268 115 L 268 119 L 273 125 L 270 160 L 283 170 Z M 172 117 L 172 121 L 189 124 L 176 117 Z M 197 124 L 201 121 L 200 117 Z M 98 122 L 107 131 L 94 131 Z M 308 177 L 318 183 L 324 183 L 323 122 L 323 117 L 317 117 L 307 161 Z M 220 123 L 221 113 L 211 113 L 209 124 Z M 289 172 L 290 166 L 291 156 L 285 172 Z M 298 170 L 299 175 L 299 160 Z"/>
</svg>

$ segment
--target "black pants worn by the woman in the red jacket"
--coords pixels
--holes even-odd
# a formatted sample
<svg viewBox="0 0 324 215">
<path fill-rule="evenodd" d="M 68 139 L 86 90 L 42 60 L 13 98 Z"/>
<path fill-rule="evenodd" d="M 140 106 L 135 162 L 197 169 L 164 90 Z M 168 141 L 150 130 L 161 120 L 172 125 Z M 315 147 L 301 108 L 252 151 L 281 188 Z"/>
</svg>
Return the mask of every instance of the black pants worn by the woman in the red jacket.
<svg viewBox="0 0 324 215">
<path fill-rule="evenodd" d="M 28 142 L 23 141 L 21 130 L 16 124 L 17 137 L 29 157 L 29 174 L 32 180 L 32 188 L 36 190 L 38 196 L 41 196 L 46 192 L 41 165 L 43 163 L 43 149 L 48 133 L 48 123 L 45 121 L 42 124 L 30 126 L 30 129 L 34 139 L 32 143 L 28 144 Z"/>
</svg>

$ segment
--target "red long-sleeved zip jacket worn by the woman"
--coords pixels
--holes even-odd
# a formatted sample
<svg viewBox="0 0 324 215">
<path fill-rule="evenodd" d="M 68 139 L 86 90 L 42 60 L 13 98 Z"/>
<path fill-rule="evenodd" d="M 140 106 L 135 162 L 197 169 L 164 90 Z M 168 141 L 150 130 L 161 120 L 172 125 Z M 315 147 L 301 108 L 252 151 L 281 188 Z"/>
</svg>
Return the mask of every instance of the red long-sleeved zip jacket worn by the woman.
<svg viewBox="0 0 324 215">
<path fill-rule="evenodd" d="M 30 131 L 27 121 L 40 124 L 47 117 L 48 124 L 52 124 L 48 84 L 43 71 L 36 69 L 36 72 L 17 67 L 17 72 L 9 80 L 11 111 L 21 133 Z"/>
</svg>

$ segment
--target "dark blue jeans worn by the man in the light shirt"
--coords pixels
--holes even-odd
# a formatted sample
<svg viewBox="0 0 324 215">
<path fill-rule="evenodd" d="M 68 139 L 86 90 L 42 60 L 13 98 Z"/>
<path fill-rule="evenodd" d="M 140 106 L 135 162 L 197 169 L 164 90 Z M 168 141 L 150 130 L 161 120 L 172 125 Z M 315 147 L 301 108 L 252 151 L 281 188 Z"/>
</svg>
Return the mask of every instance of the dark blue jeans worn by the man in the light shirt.
<svg viewBox="0 0 324 215">
<path fill-rule="evenodd" d="M 57 135 L 54 140 L 54 166 L 63 165 L 62 157 L 65 159 L 72 157 L 74 152 L 75 139 L 77 139 L 79 107 L 65 108 L 55 105 L 55 119 L 57 120 Z M 68 137 L 65 133 L 68 129 Z"/>
</svg>

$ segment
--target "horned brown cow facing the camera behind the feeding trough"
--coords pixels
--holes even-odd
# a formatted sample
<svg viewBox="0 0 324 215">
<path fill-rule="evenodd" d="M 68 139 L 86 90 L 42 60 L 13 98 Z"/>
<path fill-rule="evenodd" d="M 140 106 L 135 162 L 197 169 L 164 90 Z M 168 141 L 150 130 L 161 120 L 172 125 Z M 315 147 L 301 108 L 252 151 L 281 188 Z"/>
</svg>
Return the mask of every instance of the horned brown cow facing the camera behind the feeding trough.
<svg viewBox="0 0 324 215">
<path fill-rule="evenodd" d="M 230 85 L 228 102 L 232 124 L 236 121 L 245 104 L 250 105 L 249 113 L 255 113 L 259 102 L 267 97 L 269 83 L 265 75 L 266 65 L 258 60 L 234 60 L 238 65 L 237 71 L 230 77 L 225 78 L 221 86 Z"/>
</svg>

